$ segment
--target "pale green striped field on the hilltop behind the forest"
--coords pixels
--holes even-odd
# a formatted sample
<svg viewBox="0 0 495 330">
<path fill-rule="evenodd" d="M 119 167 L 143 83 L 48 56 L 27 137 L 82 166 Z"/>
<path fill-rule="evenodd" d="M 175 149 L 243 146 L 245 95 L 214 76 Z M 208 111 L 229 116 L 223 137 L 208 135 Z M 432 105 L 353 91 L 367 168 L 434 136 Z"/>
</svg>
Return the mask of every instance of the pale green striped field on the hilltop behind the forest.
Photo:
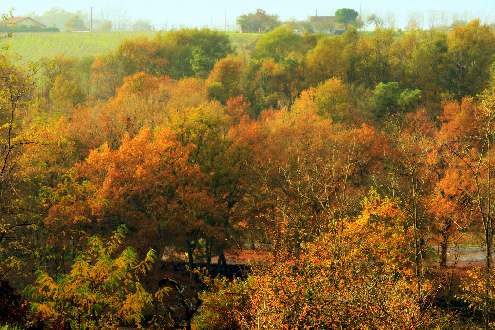
<svg viewBox="0 0 495 330">
<path fill-rule="evenodd" d="M 11 45 L 10 50 L 23 57 L 23 61 L 38 61 L 43 56 L 63 53 L 67 56 L 101 55 L 112 49 L 126 38 L 138 36 L 152 38 L 156 31 L 140 32 L 100 32 L 100 33 L 14 33 L 13 38 L 2 42 Z M 227 32 L 232 45 L 240 50 L 249 49 L 256 38 L 255 33 Z"/>
</svg>

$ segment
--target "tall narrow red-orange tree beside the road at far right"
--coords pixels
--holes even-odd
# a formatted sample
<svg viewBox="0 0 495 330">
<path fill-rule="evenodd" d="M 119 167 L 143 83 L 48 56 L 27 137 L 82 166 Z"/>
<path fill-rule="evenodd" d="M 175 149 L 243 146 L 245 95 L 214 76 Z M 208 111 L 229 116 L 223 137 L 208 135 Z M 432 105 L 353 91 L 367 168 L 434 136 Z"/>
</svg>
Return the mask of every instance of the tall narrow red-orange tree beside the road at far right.
<svg viewBox="0 0 495 330">
<path fill-rule="evenodd" d="M 432 150 L 432 170 L 436 174 L 438 197 L 434 201 L 433 228 L 440 234 L 441 264 L 446 265 L 447 247 L 460 228 L 472 225 L 470 195 L 474 193 L 466 163 L 457 157 L 463 150 L 476 147 L 477 127 L 482 125 L 479 104 L 470 97 L 461 102 L 444 100 L 442 127 L 437 147 Z"/>
</svg>

